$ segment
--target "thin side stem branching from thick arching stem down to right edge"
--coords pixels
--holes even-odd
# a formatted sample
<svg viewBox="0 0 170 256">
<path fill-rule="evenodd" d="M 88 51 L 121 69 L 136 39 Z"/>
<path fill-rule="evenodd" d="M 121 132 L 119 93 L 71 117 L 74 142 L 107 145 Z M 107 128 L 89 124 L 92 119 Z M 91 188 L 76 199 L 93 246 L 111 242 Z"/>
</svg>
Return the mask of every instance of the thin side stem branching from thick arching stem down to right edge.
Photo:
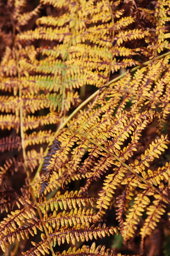
<svg viewBox="0 0 170 256">
<path fill-rule="evenodd" d="M 124 167 L 126 167 L 128 170 L 130 170 L 135 176 L 137 176 L 142 182 L 144 182 L 145 184 L 147 184 L 149 187 L 151 187 L 151 189 L 153 189 L 153 191 L 161 196 L 163 196 L 163 194 L 157 189 L 155 188 L 152 184 L 150 184 L 148 181 L 146 181 L 145 179 L 143 179 L 143 177 L 141 177 L 138 173 L 136 173 L 129 165 L 126 165 L 125 162 L 123 162 L 123 160 L 121 160 L 118 156 L 116 156 L 115 154 L 113 154 L 112 152 L 110 152 L 109 150 L 107 150 L 105 147 L 101 146 L 99 143 L 97 143 L 96 141 L 88 138 L 86 135 L 75 131 L 73 129 L 70 128 L 65 128 L 65 130 L 69 130 L 75 134 L 78 134 L 79 136 L 89 140 L 91 143 L 95 144 L 96 146 L 100 147 L 102 150 L 104 150 L 106 153 L 108 153 L 109 155 L 113 156 L 114 158 L 116 158 L 116 160 L 118 160 L 119 162 L 122 163 L 122 165 Z M 170 199 L 164 195 L 164 198 L 170 203 Z"/>
</svg>

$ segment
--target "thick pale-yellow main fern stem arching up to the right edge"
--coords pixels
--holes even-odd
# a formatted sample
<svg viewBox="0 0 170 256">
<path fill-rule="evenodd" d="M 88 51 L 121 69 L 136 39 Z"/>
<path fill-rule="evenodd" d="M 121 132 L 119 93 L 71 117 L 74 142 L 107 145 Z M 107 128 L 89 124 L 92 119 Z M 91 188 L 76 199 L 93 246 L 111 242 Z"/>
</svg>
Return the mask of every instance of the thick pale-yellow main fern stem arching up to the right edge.
<svg viewBox="0 0 170 256">
<path fill-rule="evenodd" d="M 123 74 L 117 76 L 117 77 L 114 78 L 113 80 L 111 80 L 111 81 L 109 81 L 108 83 L 106 83 L 106 84 L 102 87 L 102 89 L 105 88 L 106 86 L 109 86 L 109 85 L 111 85 L 111 84 L 117 82 L 119 79 L 121 79 L 121 78 L 124 77 L 126 74 L 128 74 L 128 72 L 133 73 L 133 72 L 136 71 L 137 69 L 142 68 L 143 66 L 147 66 L 147 65 L 148 65 L 149 63 L 151 63 L 152 61 L 157 60 L 157 59 L 164 58 L 164 57 L 167 56 L 167 55 L 170 55 L 170 51 L 167 52 L 167 53 L 164 53 L 164 54 L 162 54 L 162 55 L 160 55 L 160 56 L 158 56 L 158 57 L 156 57 L 156 58 L 154 58 L 154 59 L 148 60 L 148 61 L 144 62 L 142 65 L 138 65 L 137 67 L 134 67 L 134 68 L 131 69 L 130 71 L 126 71 L 125 73 L 123 73 Z M 76 115 L 76 114 L 79 112 L 79 110 L 81 110 L 90 100 L 92 100 L 93 98 L 95 98 L 99 93 L 100 93 L 100 89 L 97 90 L 97 91 L 95 91 L 94 94 L 92 94 L 92 95 L 91 95 L 90 97 L 88 97 L 85 101 L 83 101 L 83 102 L 67 117 L 67 119 L 60 125 L 60 127 L 56 130 L 56 132 L 55 132 L 55 134 L 54 134 L 54 137 L 57 135 L 57 133 L 58 133 L 61 129 L 63 129 L 63 128 L 67 125 L 67 123 L 71 120 L 71 118 L 73 118 L 74 115 Z M 131 94 L 133 94 L 133 93 L 131 93 Z M 49 146 L 53 143 L 53 141 L 54 141 L 54 138 L 53 138 L 53 139 L 50 141 L 50 143 L 48 144 L 48 146 L 47 146 L 47 148 L 46 148 L 46 150 L 45 150 L 45 152 L 44 152 L 44 156 L 47 155 L 48 150 L 49 150 Z M 37 172 L 35 173 L 34 179 L 32 180 L 31 184 L 33 184 L 33 183 L 35 182 L 36 177 L 37 177 L 37 174 L 41 172 L 41 168 L 42 168 L 43 162 L 44 162 L 44 159 L 41 160 L 40 165 L 39 165 L 39 167 L 38 167 L 38 169 L 37 169 Z"/>
</svg>

